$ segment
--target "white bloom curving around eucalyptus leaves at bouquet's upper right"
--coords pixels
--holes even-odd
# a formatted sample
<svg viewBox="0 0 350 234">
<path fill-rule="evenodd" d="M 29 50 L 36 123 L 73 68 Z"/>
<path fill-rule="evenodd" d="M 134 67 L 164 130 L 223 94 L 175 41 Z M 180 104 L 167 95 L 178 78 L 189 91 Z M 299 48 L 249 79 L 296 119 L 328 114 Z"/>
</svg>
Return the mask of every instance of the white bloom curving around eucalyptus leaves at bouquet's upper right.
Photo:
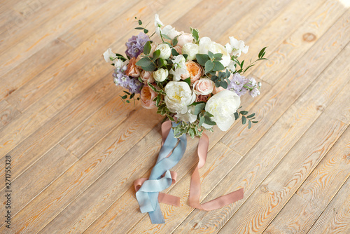
<svg viewBox="0 0 350 234">
<path fill-rule="evenodd" d="M 208 36 L 204 36 L 200 39 L 200 53 L 207 54 L 208 51 L 214 54 L 223 54 L 223 60 L 220 60 L 220 62 L 221 64 L 223 64 L 224 67 L 228 67 L 231 61 L 231 56 L 228 53 L 228 50 L 225 48 L 225 46 L 216 43 L 215 41 L 211 41 L 211 39 Z"/>
</svg>

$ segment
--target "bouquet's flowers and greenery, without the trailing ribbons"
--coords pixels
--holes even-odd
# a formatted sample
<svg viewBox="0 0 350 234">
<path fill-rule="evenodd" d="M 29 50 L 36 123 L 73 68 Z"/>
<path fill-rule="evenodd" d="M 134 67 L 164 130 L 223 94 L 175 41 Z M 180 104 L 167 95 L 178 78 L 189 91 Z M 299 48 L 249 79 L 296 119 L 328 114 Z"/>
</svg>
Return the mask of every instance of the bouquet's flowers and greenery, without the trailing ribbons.
<svg viewBox="0 0 350 234">
<path fill-rule="evenodd" d="M 261 83 L 244 77 L 244 73 L 255 62 L 266 60 L 266 47 L 244 68 L 244 60 L 239 62 L 238 58 L 248 52 L 248 46 L 233 36 L 223 46 L 207 36 L 200 38 L 197 29 L 186 33 L 171 25 L 163 27 L 158 15 L 155 32 L 148 36 L 142 21 L 137 22 L 135 29 L 142 32 L 125 43 L 126 57 L 111 48 L 104 53 L 106 62 L 114 66 L 114 83 L 128 89 L 121 96 L 123 100 L 130 103 L 139 94 L 141 106 L 158 108 L 157 113 L 178 123 L 173 127 L 175 137 L 186 133 L 200 137 L 204 129 L 212 131 L 214 125 L 227 131 L 240 117 L 243 124 L 248 121 L 248 128 L 257 123 L 253 121 L 255 113 L 238 109 L 242 95 L 260 95 Z M 151 40 L 154 34 L 162 43 Z"/>
</svg>

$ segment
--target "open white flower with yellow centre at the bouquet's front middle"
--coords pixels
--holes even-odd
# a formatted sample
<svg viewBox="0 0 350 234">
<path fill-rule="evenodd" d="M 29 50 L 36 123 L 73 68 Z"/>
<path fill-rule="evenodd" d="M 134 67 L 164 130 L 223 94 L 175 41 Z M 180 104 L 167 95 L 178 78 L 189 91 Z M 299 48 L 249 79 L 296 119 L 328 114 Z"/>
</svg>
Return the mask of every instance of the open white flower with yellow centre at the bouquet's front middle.
<svg viewBox="0 0 350 234">
<path fill-rule="evenodd" d="M 169 111 L 186 114 L 188 106 L 196 99 L 190 85 L 183 81 L 170 81 L 165 85 L 165 104 Z"/>
</svg>

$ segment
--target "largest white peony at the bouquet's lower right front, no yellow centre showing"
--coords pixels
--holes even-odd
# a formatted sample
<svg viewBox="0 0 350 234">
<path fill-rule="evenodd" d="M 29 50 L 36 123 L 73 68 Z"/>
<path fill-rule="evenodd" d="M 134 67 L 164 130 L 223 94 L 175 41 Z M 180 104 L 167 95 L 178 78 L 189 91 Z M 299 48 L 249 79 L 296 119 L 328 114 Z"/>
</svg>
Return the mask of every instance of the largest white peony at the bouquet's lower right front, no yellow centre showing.
<svg viewBox="0 0 350 234">
<path fill-rule="evenodd" d="M 205 111 L 214 116 L 211 117 L 211 120 L 216 122 L 218 128 L 227 131 L 235 121 L 234 113 L 237 111 L 239 104 L 241 104 L 241 99 L 235 92 L 223 90 L 209 98 L 205 105 Z"/>
</svg>

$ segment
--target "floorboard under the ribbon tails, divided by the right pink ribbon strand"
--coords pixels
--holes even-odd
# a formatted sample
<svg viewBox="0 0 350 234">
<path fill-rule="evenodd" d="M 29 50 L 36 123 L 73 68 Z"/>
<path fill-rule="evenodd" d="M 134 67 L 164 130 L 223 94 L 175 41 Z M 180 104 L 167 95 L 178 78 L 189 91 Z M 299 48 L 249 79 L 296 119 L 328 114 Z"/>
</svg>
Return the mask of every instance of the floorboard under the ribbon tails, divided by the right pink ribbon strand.
<svg viewBox="0 0 350 234">
<path fill-rule="evenodd" d="M 229 149 L 230 148 L 219 142 L 209 151 L 208 161 L 203 169 L 200 170 L 202 199 L 207 196 L 214 186 L 218 184 L 241 159 L 238 153 Z M 190 170 L 190 172 L 186 174 L 186 177 L 181 179 L 170 191 L 172 195 L 177 195 L 181 198 L 181 206 L 173 207 L 172 205 L 160 205 L 165 216 L 165 224 L 154 225 L 150 222 L 148 215 L 146 215 L 128 233 L 172 233 L 176 226 L 186 218 L 188 213 L 193 211 L 193 208 L 188 206 L 190 174 L 192 174 L 192 172 L 193 170 Z"/>
</svg>

